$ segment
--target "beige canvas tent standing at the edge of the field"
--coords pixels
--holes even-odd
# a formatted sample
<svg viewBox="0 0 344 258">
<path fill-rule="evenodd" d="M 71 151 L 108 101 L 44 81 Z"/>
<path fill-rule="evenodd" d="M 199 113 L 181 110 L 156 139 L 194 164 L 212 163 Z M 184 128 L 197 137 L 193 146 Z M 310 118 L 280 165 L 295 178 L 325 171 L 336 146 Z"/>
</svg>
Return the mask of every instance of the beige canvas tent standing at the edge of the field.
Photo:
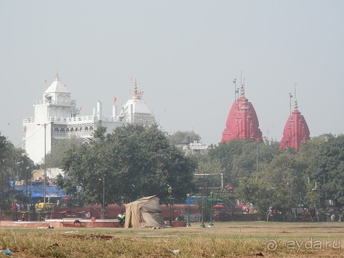
<svg viewBox="0 0 344 258">
<path fill-rule="evenodd" d="M 125 228 L 164 227 L 164 218 L 156 195 L 125 204 Z"/>
</svg>

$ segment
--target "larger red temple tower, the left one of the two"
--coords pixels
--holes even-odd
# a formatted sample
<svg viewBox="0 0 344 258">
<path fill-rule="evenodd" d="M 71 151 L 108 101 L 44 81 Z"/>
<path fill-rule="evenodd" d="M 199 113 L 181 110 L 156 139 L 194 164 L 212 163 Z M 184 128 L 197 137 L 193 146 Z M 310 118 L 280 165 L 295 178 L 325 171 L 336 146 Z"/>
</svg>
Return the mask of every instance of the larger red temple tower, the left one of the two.
<svg viewBox="0 0 344 258">
<path fill-rule="evenodd" d="M 243 85 L 240 92 L 240 97 L 230 108 L 221 142 L 233 139 L 263 140 L 255 108 L 245 97 Z"/>
</svg>

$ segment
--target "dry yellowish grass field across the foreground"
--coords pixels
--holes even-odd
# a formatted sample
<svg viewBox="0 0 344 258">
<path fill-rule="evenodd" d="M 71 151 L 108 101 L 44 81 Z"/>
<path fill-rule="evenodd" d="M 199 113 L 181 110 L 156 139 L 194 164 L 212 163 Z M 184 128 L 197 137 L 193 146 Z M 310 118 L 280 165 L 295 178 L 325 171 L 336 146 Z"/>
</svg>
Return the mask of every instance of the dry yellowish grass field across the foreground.
<svg viewBox="0 0 344 258">
<path fill-rule="evenodd" d="M 14 257 L 344 257 L 344 223 L 217 222 L 213 228 L 0 228 Z M 0 255 L 1 257 L 1 255 Z"/>
</svg>

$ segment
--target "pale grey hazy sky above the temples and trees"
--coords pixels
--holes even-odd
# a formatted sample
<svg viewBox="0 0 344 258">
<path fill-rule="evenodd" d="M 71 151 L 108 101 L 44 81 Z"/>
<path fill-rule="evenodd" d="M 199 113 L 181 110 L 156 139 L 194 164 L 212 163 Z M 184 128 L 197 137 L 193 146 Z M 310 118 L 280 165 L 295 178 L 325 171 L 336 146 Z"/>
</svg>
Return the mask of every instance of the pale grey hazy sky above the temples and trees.
<svg viewBox="0 0 344 258">
<path fill-rule="evenodd" d="M 21 146 L 23 118 L 58 73 L 82 115 L 100 100 L 111 116 L 137 78 L 165 131 L 217 144 L 241 71 L 267 138 L 281 140 L 295 83 L 311 137 L 343 133 L 343 10 L 341 0 L 0 0 L 1 135 Z"/>
</svg>

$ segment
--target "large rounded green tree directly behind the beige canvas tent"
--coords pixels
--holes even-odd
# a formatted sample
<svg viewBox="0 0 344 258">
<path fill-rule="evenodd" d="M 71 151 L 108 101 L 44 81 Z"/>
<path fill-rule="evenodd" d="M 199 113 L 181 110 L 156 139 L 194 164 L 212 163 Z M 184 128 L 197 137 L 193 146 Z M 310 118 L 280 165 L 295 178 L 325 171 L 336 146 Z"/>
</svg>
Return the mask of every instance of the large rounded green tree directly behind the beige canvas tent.
<svg viewBox="0 0 344 258">
<path fill-rule="evenodd" d="M 107 136 L 97 131 L 95 136 L 62 159 L 67 177 L 56 182 L 67 193 L 89 204 L 103 204 L 105 187 L 107 206 L 149 195 L 164 199 L 169 186 L 180 198 L 193 187 L 195 162 L 171 145 L 158 127 L 126 125 Z"/>
</svg>

